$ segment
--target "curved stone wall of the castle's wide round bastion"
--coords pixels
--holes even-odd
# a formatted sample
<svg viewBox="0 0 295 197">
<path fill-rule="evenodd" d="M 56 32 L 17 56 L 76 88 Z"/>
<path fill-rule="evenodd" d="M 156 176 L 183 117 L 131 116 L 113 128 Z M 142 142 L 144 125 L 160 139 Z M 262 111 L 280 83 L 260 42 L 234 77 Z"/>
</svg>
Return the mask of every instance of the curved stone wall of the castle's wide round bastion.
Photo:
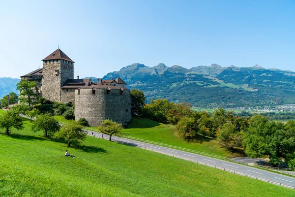
<svg viewBox="0 0 295 197">
<path fill-rule="evenodd" d="M 78 95 L 80 91 L 80 95 Z M 91 89 L 75 90 L 75 119 L 85 118 L 91 127 L 97 127 L 103 120 L 111 119 L 126 125 L 131 121 L 130 91 L 111 89 L 107 95 L 106 89 L 96 89 L 92 95 Z"/>
</svg>

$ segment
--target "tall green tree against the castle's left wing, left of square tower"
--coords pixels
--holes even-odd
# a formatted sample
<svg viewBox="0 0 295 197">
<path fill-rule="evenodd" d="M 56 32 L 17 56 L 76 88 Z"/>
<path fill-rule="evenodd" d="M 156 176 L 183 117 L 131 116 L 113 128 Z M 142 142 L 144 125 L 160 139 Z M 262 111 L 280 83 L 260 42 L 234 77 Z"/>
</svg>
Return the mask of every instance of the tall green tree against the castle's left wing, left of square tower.
<svg viewBox="0 0 295 197">
<path fill-rule="evenodd" d="M 37 84 L 34 81 L 29 81 L 28 79 L 23 79 L 16 84 L 16 89 L 20 91 L 20 102 L 26 103 L 31 107 L 36 99 L 36 94 L 34 91 L 38 90 Z"/>
</svg>

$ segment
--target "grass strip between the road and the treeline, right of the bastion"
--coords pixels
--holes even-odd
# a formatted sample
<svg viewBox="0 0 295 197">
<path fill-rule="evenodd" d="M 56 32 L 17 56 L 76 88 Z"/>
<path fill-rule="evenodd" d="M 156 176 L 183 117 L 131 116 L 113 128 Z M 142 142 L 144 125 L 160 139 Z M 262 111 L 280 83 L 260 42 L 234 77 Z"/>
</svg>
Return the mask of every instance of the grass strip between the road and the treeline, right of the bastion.
<svg viewBox="0 0 295 197">
<path fill-rule="evenodd" d="M 175 126 L 165 125 L 146 118 L 132 118 L 130 126 L 128 127 L 128 129 L 124 129 L 124 132 L 132 137 L 201 151 L 223 157 L 232 158 L 243 155 L 243 151 L 241 149 L 237 149 L 237 151 L 240 151 L 240 153 L 232 153 L 224 148 L 221 148 L 219 142 L 214 138 L 204 137 L 203 135 L 198 135 L 198 138 L 196 140 L 187 141 L 177 135 L 177 130 Z"/>
</svg>

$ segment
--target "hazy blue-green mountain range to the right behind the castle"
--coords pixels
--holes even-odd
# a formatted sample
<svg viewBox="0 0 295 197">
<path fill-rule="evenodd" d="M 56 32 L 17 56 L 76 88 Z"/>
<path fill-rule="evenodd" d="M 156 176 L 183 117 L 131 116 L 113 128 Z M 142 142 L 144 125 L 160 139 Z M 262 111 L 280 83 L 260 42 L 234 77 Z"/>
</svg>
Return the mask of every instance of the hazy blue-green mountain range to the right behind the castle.
<svg viewBox="0 0 295 197">
<path fill-rule="evenodd" d="M 249 68 L 213 65 L 214 73 L 196 68 L 148 67 L 132 64 L 108 73 L 103 79 L 121 77 L 130 89 L 144 91 L 150 99 L 186 101 L 198 107 L 241 107 L 295 103 L 295 77 L 259 65 Z M 204 66 L 203 66 L 204 68 Z M 217 74 L 217 70 L 222 71 Z M 212 71 L 212 69 L 210 69 Z M 200 69 L 199 69 L 200 71 Z M 216 77 L 208 76 L 216 75 Z"/>
</svg>

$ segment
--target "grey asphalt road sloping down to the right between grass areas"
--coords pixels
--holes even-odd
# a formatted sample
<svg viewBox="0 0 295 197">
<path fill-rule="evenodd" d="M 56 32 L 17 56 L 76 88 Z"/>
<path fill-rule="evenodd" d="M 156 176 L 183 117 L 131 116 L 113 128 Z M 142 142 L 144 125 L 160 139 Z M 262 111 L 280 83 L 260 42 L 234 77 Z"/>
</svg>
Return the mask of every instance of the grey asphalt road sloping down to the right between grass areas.
<svg viewBox="0 0 295 197">
<path fill-rule="evenodd" d="M 88 131 L 88 133 L 89 133 L 89 135 L 92 135 L 92 131 Z M 106 134 L 93 132 L 93 136 L 94 135 L 95 135 L 95 137 L 100 137 L 100 138 L 103 135 L 103 138 L 105 138 L 107 140 L 109 139 L 109 136 Z M 269 172 L 269 171 L 262 170 L 262 169 L 257 169 L 255 167 L 246 166 L 246 165 L 242 165 L 242 164 L 236 164 L 236 163 L 232 163 L 232 162 L 228 162 L 228 161 L 224 161 L 224 160 L 218 160 L 218 159 L 214 159 L 214 158 L 210 158 L 210 157 L 206 157 L 206 156 L 202 156 L 202 155 L 197 155 L 194 153 L 179 151 L 176 149 L 171 149 L 171 148 L 166 148 L 166 147 L 162 147 L 162 146 L 158 146 L 158 145 L 148 144 L 145 142 L 139 142 L 136 140 L 131 140 L 131 139 L 118 137 L 118 136 L 112 136 L 112 140 L 121 141 L 123 143 L 130 143 L 132 145 L 135 145 L 135 146 L 138 146 L 141 148 L 147 148 L 147 149 L 152 149 L 155 151 L 160 151 L 161 153 L 167 153 L 168 155 L 171 155 L 171 156 L 175 155 L 176 157 L 187 158 L 187 159 L 190 159 L 193 161 L 198 161 L 201 163 L 210 164 L 211 166 L 216 166 L 216 168 L 220 168 L 220 169 L 225 168 L 227 170 L 237 172 L 238 174 L 246 174 L 246 175 L 253 176 L 252 178 L 257 177 L 260 179 L 266 179 L 266 180 L 269 180 L 272 182 L 277 182 L 277 183 L 281 183 L 284 185 L 295 187 L 295 178 L 281 175 L 281 174 L 277 174 L 274 172 Z"/>
</svg>

